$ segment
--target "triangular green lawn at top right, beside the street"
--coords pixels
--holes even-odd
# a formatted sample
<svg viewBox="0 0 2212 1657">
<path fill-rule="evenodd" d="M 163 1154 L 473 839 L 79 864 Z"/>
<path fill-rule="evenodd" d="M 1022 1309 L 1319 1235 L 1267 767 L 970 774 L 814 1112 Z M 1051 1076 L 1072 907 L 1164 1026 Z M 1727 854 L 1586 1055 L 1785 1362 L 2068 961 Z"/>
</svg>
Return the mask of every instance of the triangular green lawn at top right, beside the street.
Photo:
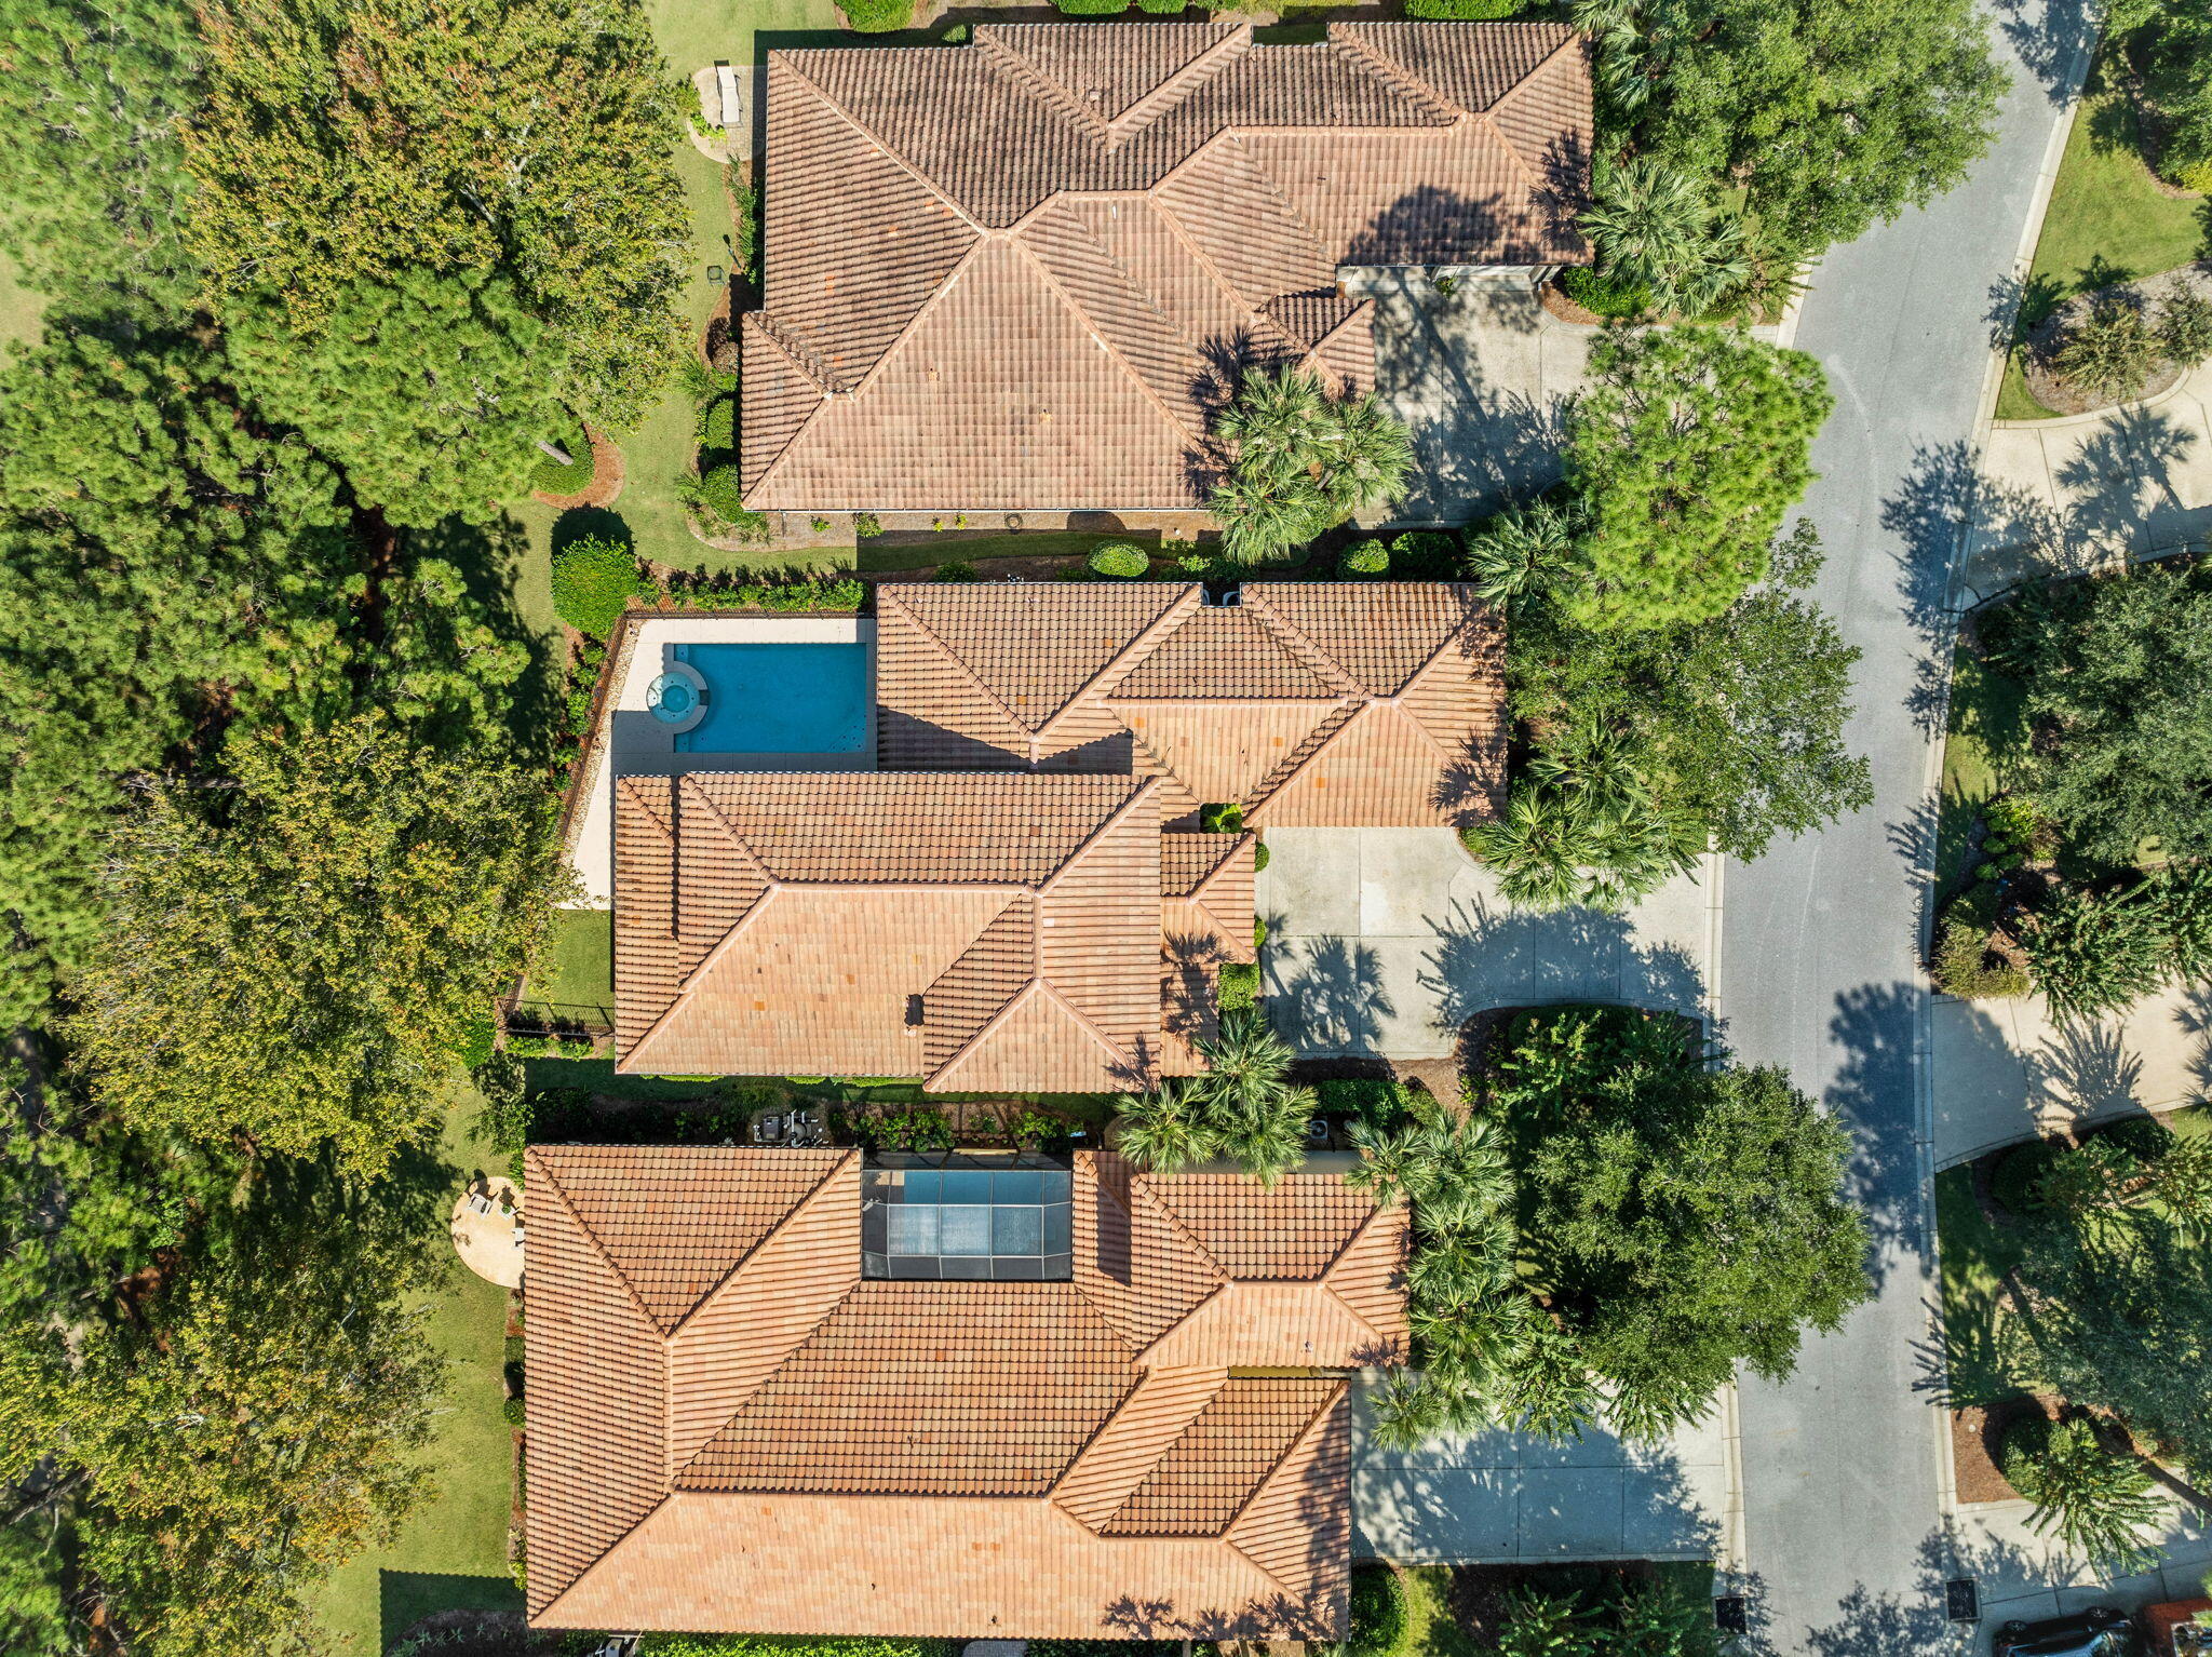
<svg viewBox="0 0 2212 1657">
<path fill-rule="evenodd" d="M 2088 288 L 2157 277 L 2212 252 L 2205 199 L 2161 195 L 2135 144 L 2135 111 L 2108 84 L 2099 51 L 2051 188 L 2051 210 L 2020 303 L 2022 325 L 2042 321 Z M 2006 365 L 1997 418 L 2051 418 L 2051 409 L 2028 396 L 2017 358 Z"/>
</svg>

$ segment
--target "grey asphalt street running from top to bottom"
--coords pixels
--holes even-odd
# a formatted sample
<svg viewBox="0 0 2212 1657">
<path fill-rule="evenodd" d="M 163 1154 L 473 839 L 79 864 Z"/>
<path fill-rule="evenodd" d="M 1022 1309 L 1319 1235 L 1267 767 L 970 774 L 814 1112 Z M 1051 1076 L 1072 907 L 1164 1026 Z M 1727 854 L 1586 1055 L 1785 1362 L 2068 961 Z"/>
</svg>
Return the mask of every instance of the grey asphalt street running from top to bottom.
<svg viewBox="0 0 2212 1657">
<path fill-rule="evenodd" d="M 1880 1288 L 1838 1334 L 1807 1341 L 1787 1380 L 1745 1376 L 1745 1586 L 1774 1653 L 1949 1650 L 1940 1584 L 1973 1569 L 1947 1542 L 1940 1507 L 1916 958 L 1949 666 L 1942 600 L 1969 445 L 1993 316 L 2008 314 L 2086 29 L 2077 0 L 2028 0 L 1991 18 L 2013 75 L 1995 146 L 1949 197 L 1836 248 L 1796 334 L 1836 392 L 1805 513 L 1827 544 L 1818 597 L 1865 653 L 1851 737 L 1874 763 L 1876 799 L 1728 867 L 1717 998 L 1741 1060 L 1787 1066 L 1858 1128 L 1854 1177 Z"/>
</svg>

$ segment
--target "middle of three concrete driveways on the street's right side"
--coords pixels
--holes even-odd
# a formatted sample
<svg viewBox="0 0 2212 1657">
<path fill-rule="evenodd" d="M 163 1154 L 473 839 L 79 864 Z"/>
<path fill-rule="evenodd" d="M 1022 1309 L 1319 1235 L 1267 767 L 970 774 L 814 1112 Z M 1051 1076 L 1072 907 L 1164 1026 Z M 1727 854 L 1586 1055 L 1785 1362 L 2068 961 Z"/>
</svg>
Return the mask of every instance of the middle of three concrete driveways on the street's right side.
<svg viewBox="0 0 2212 1657">
<path fill-rule="evenodd" d="M 2212 984 L 2055 1024 L 2042 996 L 1933 1007 L 1936 1166 L 2031 1133 L 2197 1104 L 2212 1082 Z"/>
</svg>

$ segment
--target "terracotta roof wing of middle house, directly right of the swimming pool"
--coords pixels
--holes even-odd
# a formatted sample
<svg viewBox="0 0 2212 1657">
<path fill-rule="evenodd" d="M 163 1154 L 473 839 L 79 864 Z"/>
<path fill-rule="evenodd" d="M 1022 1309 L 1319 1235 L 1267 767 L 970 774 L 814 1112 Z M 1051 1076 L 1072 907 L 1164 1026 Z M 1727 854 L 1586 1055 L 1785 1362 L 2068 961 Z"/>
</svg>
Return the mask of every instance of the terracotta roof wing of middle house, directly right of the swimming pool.
<svg viewBox="0 0 2212 1657">
<path fill-rule="evenodd" d="M 1168 825 L 1210 801 L 1316 827 L 1495 812 L 1504 635 L 1473 588 L 1252 582 L 1241 600 L 1175 582 L 885 588 L 878 759 L 1159 777 Z"/>
</svg>

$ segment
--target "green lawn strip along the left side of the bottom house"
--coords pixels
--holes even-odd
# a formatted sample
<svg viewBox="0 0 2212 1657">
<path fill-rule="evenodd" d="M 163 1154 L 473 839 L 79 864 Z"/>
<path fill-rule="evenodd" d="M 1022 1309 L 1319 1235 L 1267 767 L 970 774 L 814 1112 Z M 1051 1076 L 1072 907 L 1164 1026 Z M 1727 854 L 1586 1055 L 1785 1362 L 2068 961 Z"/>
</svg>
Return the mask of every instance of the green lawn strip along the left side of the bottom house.
<svg viewBox="0 0 2212 1657">
<path fill-rule="evenodd" d="M 478 1108 L 473 1088 L 456 1091 L 445 1137 L 456 1192 L 467 1173 L 498 1168 L 491 1148 L 469 1133 Z M 442 1226 L 425 1246 L 451 1259 Z M 434 1493 L 407 1518 L 392 1546 L 363 1553 L 316 1595 L 338 1657 L 383 1653 L 431 1611 L 522 1608 L 507 1566 L 511 1436 L 500 1414 L 507 1290 L 453 1259 L 445 1292 L 431 1301 L 427 1332 L 451 1363 L 445 1414 L 425 1453 Z"/>
</svg>

